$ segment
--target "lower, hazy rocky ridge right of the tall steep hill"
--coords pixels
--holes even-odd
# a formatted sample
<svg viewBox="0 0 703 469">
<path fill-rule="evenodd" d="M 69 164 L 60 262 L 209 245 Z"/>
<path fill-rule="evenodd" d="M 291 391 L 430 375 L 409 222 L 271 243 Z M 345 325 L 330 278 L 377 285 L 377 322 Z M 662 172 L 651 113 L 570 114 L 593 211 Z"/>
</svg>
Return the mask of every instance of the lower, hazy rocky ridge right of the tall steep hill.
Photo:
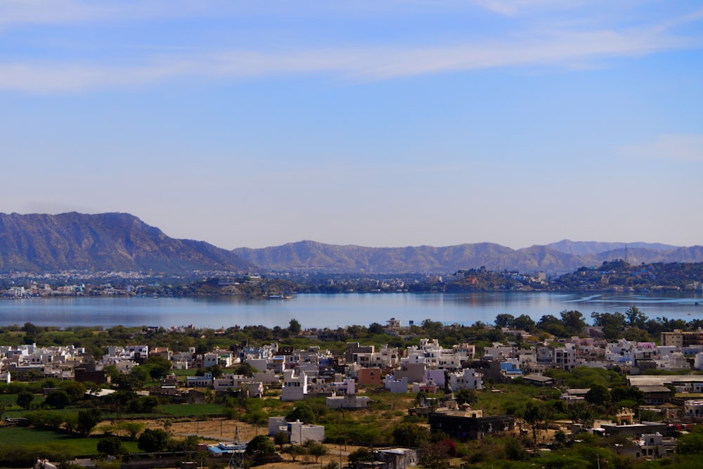
<svg viewBox="0 0 703 469">
<path fill-rule="evenodd" d="M 598 251 L 602 249 L 602 251 Z M 476 243 L 434 248 L 364 248 L 300 241 L 270 248 L 238 248 L 233 252 L 265 270 L 326 271 L 336 273 L 401 274 L 447 273 L 485 266 L 493 270 L 523 273 L 546 271 L 562 274 L 581 266 L 595 266 L 627 257 L 642 262 L 703 262 L 703 248 L 678 248 L 662 244 L 579 243 L 560 241 L 552 245 L 513 250 L 494 243 Z"/>
</svg>

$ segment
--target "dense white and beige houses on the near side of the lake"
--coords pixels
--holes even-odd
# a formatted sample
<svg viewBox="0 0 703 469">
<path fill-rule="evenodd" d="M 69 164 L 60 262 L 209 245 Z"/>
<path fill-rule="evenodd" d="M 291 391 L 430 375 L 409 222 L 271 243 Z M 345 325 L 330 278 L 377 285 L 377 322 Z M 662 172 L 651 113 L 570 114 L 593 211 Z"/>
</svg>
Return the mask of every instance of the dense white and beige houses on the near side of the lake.
<svg viewBox="0 0 703 469">
<path fill-rule="evenodd" d="M 394 320 L 392 320 L 394 321 Z M 394 321 L 396 322 L 396 321 Z M 393 326 L 391 321 L 389 325 Z M 505 330 L 508 335 L 524 335 L 524 331 Z M 586 331 L 588 333 L 588 331 Z M 517 343 L 522 343 L 519 347 Z M 18 345 L 0 347 L 0 379 L 51 377 L 91 383 L 108 383 L 105 366 L 129 372 L 155 354 L 163 356 L 175 370 L 207 370 L 232 368 L 249 364 L 253 375 L 211 373 L 188 376 L 185 381 L 169 375 L 152 392 L 162 395 L 182 395 L 196 388 L 216 392 L 242 392 L 260 397 L 266 387 L 279 387 L 280 399 L 300 401 L 308 397 L 326 398 L 331 409 L 363 409 L 370 397 L 366 387 L 383 387 L 389 392 L 444 395 L 441 404 L 421 402 L 432 430 L 449 433 L 460 439 L 481 438 L 492 432 L 505 432 L 515 427 L 512 416 L 484 416 L 470 406 L 457 405 L 452 392 L 460 389 L 483 390 L 493 383 L 505 383 L 515 378 L 537 386 L 562 389 L 566 404 L 582 401 L 588 390 L 569 390 L 544 375 L 550 368 L 572 371 L 578 366 L 619 367 L 628 375 L 628 382 L 643 392 L 646 409 L 659 413 L 657 422 L 635 422 L 628 409 L 622 409 L 616 423 L 594 423 L 591 430 L 605 435 L 626 435 L 631 439 L 634 456 L 665 456 L 675 448 L 674 432 L 687 425 L 703 421 L 703 379 L 697 375 L 648 375 L 647 370 L 691 371 L 703 369 L 703 331 L 687 333 L 676 330 L 662 334 L 662 345 L 654 342 L 618 340 L 607 342 L 600 338 L 574 337 L 562 342 L 495 343 L 476 356 L 474 345 L 457 344 L 445 348 L 437 339 L 421 339 L 419 345 L 398 349 L 382 345 L 349 342 L 341 355 L 321 347 L 293 349 L 276 343 L 262 347 L 243 347 L 237 351 L 214 349 L 198 354 L 172 352 L 165 347 L 147 345 L 108 347 L 101 359 L 87 361 L 84 349 L 74 346 L 37 347 Z M 361 391 L 361 392 L 360 392 Z M 675 394 L 676 393 L 676 394 Z M 692 394 L 683 399 L 682 394 Z M 650 415 L 652 415 L 650 413 Z M 576 428 L 569 430 L 577 431 Z M 269 431 L 286 431 L 292 441 L 321 440 L 324 428 L 317 425 L 285 422 L 273 419 Z M 295 435 L 294 435 L 295 434 Z M 625 451 L 625 449 L 624 449 Z"/>
</svg>

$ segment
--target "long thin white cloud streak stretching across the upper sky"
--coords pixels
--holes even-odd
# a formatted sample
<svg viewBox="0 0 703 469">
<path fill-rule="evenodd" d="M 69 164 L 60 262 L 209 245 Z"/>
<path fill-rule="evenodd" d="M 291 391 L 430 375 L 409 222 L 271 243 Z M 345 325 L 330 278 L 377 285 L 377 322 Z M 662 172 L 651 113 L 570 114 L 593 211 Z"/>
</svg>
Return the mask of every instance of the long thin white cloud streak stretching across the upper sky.
<svg viewBox="0 0 703 469">
<path fill-rule="evenodd" d="M 299 51 L 200 51 L 151 56 L 133 65 L 0 63 L 0 89 L 51 93 L 142 86 L 179 77 L 238 77 L 330 73 L 380 80 L 515 66 L 582 66 L 591 60 L 641 56 L 695 46 L 690 39 L 652 32 L 569 32 L 531 41 L 484 41 L 444 47 L 366 46 Z"/>
</svg>

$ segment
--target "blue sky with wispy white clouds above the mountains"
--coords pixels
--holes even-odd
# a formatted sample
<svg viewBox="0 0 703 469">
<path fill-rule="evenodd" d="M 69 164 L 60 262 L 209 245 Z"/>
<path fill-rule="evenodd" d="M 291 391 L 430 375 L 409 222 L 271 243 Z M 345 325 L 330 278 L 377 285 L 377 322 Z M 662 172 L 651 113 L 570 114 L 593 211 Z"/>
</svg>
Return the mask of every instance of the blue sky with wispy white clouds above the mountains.
<svg viewBox="0 0 703 469">
<path fill-rule="evenodd" d="M 4 0 L 0 212 L 220 248 L 703 244 L 703 4 Z"/>
</svg>

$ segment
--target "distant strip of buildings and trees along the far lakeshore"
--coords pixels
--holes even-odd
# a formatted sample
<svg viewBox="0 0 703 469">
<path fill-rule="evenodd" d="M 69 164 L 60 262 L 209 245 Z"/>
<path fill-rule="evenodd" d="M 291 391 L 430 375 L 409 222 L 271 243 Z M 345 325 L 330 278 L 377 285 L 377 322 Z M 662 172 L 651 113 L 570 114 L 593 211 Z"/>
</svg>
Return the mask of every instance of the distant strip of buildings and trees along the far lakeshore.
<svg viewBox="0 0 703 469">
<path fill-rule="evenodd" d="M 399 293 L 472 291 L 703 292 L 703 263 L 632 265 L 623 259 L 583 266 L 567 274 L 491 270 L 484 267 L 445 274 L 381 276 L 269 271 L 246 275 L 193 271 L 178 276 L 153 272 L 60 271 L 41 275 L 0 274 L 0 297 L 201 296 L 266 297 L 283 293 Z"/>
</svg>

